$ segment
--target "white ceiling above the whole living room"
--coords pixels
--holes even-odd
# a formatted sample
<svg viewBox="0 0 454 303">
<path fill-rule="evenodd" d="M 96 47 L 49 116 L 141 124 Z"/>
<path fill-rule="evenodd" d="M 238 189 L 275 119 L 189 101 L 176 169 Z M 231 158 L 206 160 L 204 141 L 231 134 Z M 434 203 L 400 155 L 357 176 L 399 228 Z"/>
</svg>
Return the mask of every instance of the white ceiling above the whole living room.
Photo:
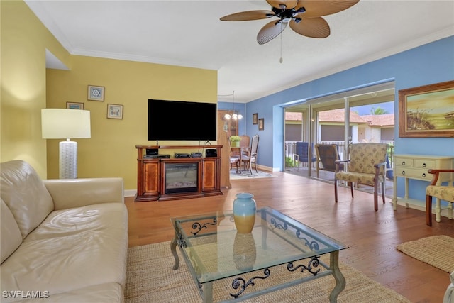
<svg viewBox="0 0 454 303">
<path fill-rule="evenodd" d="M 234 90 L 238 102 L 454 35 L 453 0 L 360 0 L 324 17 L 328 38 L 306 38 L 287 26 L 279 63 L 281 36 L 265 45 L 256 41 L 269 20 L 219 21 L 230 13 L 270 9 L 265 0 L 26 4 L 73 55 L 218 70 L 218 94 Z"/>
</svg>

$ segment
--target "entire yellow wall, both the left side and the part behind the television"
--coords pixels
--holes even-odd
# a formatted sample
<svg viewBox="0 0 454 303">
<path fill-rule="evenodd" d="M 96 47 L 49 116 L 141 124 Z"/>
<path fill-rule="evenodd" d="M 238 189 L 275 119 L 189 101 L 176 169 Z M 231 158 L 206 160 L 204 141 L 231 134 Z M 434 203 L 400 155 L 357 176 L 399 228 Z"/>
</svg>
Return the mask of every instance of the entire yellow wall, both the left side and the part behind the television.
<svg viewBox="0 0 454 303">
<path fill-rule="evenodd" d="M 217 101 L 215 70 L 70 55 L 23 1 L 0 1 L 0 13 L 1 162 L 26 160 L 41 177 L 57 178 L 60 140 L 41 138 L 40 109 L 83 102 L 92 138 L 76 140 L 78 177 L 123 177 L 125 189 L 136 189 L 135 145 L 154 144 L 148 99 Z M 46 48 L 70 70 L 46 71 Z M 87 85 L 104 86 L 105 101 L 87 101 Z M 123 104 L 123 119 L 107 119 L 107 104 Z"/>
</svg>

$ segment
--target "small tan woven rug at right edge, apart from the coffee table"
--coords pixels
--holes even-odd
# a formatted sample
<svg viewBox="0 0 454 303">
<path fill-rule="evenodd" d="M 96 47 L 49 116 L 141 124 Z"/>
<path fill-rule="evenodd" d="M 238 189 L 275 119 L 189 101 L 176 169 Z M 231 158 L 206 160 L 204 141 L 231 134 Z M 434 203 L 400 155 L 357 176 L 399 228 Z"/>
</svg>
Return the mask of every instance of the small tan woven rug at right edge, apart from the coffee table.
<svg viewBox="0 0 454 303">
<path fill-rule="evenodd" d="M 397 250 L 445 272 L 454 271 L 454 238 L 450 236 L 430 236 L 405 242 L 397 246 Z"/>
</svg>

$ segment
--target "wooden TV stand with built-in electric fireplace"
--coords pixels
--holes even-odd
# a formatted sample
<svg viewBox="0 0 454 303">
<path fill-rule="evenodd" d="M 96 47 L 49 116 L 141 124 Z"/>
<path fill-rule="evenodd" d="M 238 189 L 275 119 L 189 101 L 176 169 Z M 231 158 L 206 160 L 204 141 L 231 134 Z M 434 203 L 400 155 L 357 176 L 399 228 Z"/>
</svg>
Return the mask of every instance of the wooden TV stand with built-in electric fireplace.
<svg viewBox="0 0 454 303">
<path fill-rule="evenodd" d="M 221 192 L 221 148 L 222 145 L 135 145 L 137 148 L 137 195 L 135 202 L 157 200 L 191 199 L 196 197 L 215 196 Z M 159 154 L 172 152 L 170 158 L 145 158 L 145 150 L 157 149 Z M 206 149 L 215 149 L 216 156 L 205 157 Z M 201 158 L 174 158 L 174 151 L 184 150 L 184 153 L 202 150 Z M 189 150 L 189 152 L 188 152 Z M 162 152 L 162 153 L 161 153 Z M 187 165 L 196 173 L 194 188 L 187 192 L 170 192 L 166 188 L 166 167 Z M 194 172 L 196 167 L 196 172 Z"/>
</svg>

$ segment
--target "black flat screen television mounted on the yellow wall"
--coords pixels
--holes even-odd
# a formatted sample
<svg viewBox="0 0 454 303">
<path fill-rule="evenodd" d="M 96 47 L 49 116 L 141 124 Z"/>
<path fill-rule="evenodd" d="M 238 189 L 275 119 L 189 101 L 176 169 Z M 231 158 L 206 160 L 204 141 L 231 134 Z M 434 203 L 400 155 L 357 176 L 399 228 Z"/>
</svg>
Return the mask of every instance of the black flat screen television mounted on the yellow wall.
<svg viewBox="0 0 454 303">
<path fill-rule="evenodd" d="M 148 99 L 148 141 L 216 141 L 217 104 Z"/>
</svg>

